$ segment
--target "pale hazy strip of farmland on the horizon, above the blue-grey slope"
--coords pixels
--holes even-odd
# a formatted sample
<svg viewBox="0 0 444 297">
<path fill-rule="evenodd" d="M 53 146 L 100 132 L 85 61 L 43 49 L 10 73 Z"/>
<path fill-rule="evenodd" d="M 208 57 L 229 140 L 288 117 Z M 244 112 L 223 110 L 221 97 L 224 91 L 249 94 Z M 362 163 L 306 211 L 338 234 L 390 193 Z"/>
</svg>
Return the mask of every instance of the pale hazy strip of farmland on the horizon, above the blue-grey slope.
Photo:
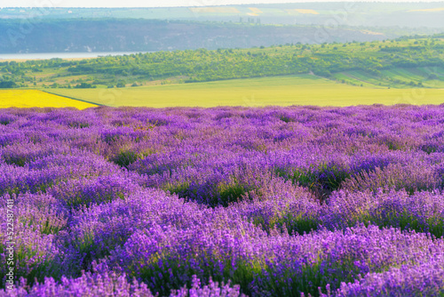
<svg viewBox="0 0 444 297">
<path fill-rule="evenodd" d="M 285 1 L 282 1 L 285 2 Z M 349 27 L 443 28 L 444 2 L 305 2 L 292 4 L 245 4 L 206 7 L 156 8 L 4 8 L 0 19 L 68 20 L 135 19 L 260 22 L 277 25 Z M 189 4 L 192 4 L 190 2 Z M 124 3 L 123 3 L 124 5 Z M 215 5 L 215 6 L 211 6 Z M 427 32 L 422 32 L 426 34 Z M 430 33 L 430 32 L 429 32 Z M 265 44 L 264 44 L 265 45 Z"/>
</svg>

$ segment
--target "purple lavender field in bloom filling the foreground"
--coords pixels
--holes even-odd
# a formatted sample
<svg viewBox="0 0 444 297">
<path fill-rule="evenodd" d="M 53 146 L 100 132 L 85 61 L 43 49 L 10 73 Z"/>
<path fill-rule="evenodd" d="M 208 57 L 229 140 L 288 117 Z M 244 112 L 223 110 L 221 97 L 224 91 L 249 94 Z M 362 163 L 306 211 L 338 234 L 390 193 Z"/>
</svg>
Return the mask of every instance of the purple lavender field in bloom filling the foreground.
<svg viewBox="0 0 444 297">
<path fill-rule="evenodd" d="M 0 296 L 443 296 L 443 188 L 444 105 L 0 109 Z"/>
</svg>

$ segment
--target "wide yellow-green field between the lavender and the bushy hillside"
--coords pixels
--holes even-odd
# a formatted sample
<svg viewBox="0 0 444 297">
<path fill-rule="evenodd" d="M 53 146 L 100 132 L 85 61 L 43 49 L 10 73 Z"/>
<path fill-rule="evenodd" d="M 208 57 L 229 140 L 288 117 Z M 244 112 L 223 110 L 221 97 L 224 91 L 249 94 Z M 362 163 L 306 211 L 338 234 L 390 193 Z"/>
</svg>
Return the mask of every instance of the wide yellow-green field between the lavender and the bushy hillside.
<svg viewBox="0 0 444 297">
<path fill-rule="evenodd" d="M 48 91 L 45 89 L 45 91 Z M 51 89 L 50 92 L 107 106 L 216 107 L 267 105 L 351 106 L 440 104 L 444 89 L 388 89 L 337 84 L 319 76 L 275 76 L 208 83 L 113 89 Z"/>
</svg>

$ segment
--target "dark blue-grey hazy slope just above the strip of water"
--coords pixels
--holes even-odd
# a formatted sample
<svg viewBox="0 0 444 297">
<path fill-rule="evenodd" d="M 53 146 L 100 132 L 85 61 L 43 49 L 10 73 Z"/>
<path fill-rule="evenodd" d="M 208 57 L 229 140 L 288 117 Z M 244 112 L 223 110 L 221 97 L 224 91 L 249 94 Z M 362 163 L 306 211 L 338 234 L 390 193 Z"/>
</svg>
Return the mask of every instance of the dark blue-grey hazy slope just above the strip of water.
<svg viewBox="0 0 444 297">
<path fill-rule="evenodd" d="M 383 40 L 397 32 L 186 20 L 0 20 L 0 53 L 155 52 Z"/>
</svg>

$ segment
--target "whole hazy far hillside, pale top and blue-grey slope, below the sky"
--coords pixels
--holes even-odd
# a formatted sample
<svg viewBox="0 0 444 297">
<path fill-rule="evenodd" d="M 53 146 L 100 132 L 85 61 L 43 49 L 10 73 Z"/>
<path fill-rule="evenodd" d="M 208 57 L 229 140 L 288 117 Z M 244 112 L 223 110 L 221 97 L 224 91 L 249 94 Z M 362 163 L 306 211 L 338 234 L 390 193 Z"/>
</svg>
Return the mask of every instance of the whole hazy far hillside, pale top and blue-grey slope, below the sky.
<svg viewBox="0 0 444 297">
<path fill-rule="evenodd" d="M 0 9 L 0 54 L 157 52 L 370 42 L 439 34 L 444 28 L 443 7 L 444 2 L 9 7 Z"/>
</svg>

